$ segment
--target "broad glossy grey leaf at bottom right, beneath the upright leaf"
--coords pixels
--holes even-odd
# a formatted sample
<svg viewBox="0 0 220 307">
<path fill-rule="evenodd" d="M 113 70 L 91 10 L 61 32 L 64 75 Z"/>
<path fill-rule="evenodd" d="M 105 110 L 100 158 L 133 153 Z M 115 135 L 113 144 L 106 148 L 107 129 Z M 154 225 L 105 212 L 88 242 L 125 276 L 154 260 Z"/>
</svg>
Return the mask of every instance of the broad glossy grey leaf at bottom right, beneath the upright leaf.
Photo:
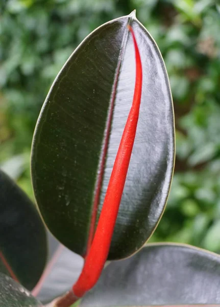
<svg viewBox="0 0 220 307">
<path fill-rule="evenodd" d="M 81 307 L 220 304 L 220 256 L 187 245 L 155 244 L 112 262 Z"/>
</svg>

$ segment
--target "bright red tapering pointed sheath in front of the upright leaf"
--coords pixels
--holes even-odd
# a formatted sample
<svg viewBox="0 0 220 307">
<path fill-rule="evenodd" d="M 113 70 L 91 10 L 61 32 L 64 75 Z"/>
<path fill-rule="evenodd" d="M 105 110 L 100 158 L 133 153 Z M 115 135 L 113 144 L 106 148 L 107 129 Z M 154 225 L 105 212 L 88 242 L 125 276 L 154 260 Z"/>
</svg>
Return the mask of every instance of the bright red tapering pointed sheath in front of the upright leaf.
<svg viewBox="0 0 220 307">
<path fill-rule="evenodd" d="M 100 214 L 94 238 L 92 240 L 91 248 L 85 259 L 82 273 L 77 282 L 72 287 L 72 290 L 77 297 L 82 297 L 85 292 L 94 286 L 104 268 L 109 253 L 111 239 L 121 201 L 121 196 L 125 186 L 131 152 L 136 135 L 142 89 L 142 66 L 133 29 L 131 26 L 128 26 L 128 29 L 130 30 L 133 37 L 136 58 L 136 80 L 134 97 L 131 110 L 124 128 L 123 136 L 121 137 L 120 145 L 117 151 L 116 159 L 109 180 L 109 185 L 105 195 L 105 200 L 103 203 L 103 208 Z"/>
</svg>

